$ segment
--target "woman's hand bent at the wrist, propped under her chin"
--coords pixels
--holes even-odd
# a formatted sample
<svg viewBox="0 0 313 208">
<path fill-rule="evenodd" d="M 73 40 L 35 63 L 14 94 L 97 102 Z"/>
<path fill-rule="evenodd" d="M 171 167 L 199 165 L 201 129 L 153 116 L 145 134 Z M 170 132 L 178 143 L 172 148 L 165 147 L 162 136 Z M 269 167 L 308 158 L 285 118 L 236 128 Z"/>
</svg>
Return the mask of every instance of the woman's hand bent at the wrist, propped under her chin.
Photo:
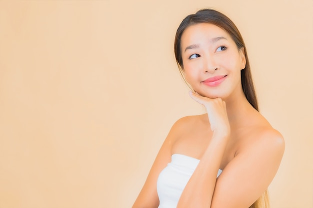
<svg viewBox="0 0 313 208">
<path fill-rule="evenodd" d="M 211 99 L 203 97 L 196 92 L 189 92 L 189 95 L 193 100 L 205 107 L 213 134 L 228 137 L 230 126 L 225 101 L 221 98 Z"/>
</svg>

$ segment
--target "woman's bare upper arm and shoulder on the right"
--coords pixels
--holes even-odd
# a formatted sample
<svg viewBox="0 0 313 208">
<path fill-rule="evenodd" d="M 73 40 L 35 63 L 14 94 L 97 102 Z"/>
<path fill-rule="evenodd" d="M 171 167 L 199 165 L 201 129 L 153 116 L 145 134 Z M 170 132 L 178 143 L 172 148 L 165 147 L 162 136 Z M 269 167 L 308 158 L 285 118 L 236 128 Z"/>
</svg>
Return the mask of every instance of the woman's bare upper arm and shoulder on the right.
<svg viewBox="0 0 313 208">
<path fill-rule="evenodd" d="M 218 177 L 211 208 L 251 206 L 274 178 L 283 152 L 283 138 L 275 130 L 246 145 Z"/>
</svg>

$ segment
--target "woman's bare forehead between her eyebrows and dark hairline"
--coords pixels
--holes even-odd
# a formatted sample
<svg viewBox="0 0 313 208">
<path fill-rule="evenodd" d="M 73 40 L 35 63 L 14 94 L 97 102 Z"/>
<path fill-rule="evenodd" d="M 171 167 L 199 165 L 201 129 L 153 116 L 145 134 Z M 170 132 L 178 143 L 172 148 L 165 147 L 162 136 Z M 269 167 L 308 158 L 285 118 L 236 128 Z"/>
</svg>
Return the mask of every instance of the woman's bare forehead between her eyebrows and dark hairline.
<svg viewBox="0 0 313 208">
<path fill-rule="evenodd" d="M 198 23 L 188 26 L 181 35 L 181 47 L 190 44 L 199 44 L 202 41 L 209 41 L 215 37 L 225 37 L 228 41 L 232 38 L 222 28 L 211 23 Z"/>
</svg>

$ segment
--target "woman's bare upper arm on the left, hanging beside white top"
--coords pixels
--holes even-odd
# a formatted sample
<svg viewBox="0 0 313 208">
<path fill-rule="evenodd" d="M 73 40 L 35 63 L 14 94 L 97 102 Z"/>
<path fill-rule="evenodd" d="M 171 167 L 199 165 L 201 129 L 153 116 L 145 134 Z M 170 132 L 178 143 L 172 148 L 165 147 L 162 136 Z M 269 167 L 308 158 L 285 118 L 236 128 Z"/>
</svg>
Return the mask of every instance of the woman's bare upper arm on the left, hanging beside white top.
<svg viewBox="0 0 313 208">
<path fill-rule="evenodd" d="M 156 192 L 156 182 L 160 172 L 171 160 L 171 147 L 177 137 L 179 120 L 172 126 L 166 139 L 164 140 L 154 162 L 149 171 L 147 179 L 132 208 L 157 208 L 159 200 Z"/>
</svg>

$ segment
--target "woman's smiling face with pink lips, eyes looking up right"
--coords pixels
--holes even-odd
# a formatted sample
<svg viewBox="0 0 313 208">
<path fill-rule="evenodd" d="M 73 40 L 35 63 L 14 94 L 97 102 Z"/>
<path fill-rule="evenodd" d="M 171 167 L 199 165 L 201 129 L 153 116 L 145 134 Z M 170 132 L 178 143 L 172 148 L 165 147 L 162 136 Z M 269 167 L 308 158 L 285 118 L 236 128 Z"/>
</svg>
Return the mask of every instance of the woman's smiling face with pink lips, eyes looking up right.
<svg viewBox="0 0 313 208">
<path fill-rule="evenodd" d="M 180 47 L 185 79 L 197 93 L 226 99 L 242 91 L 244 51 L 223 29 L 209 23 L 191 25 L 183 32 Z"/>
</svg>

